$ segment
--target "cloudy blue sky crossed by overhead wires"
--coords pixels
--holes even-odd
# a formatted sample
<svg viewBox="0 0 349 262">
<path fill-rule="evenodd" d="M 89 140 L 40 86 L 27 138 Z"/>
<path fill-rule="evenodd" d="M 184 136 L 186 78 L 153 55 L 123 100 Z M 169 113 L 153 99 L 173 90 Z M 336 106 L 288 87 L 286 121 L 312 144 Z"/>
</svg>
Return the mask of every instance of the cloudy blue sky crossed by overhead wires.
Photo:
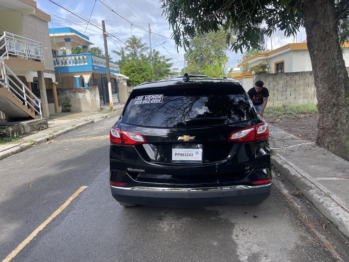
<svg viewBox="0 0 349 262">
<path fill-rule="evenodd" d="M 90 17 L 94 0 L 54 0 L 55 2 L 65 6 L 76 14 L 85 18 Z M 171 29 L 165 17 L 162 16 L 161 4 L 158 0 L 101 0 L 106 6 L 111 7 L 116 13 L 124 17 L 131 24 L 121 18 L 116 13 L 104 6 L 98 0 L 91 15 L 91 23 L 97 27 L 102 28 L 101 21 L 105 20 L 106 30 L 112 35 L 116 36 L 120 41 L 114 37 L 108 39 L 108 50 L 119 50 L 124 46 L 122 42 L 131 36 L 142 37 L 143 42 L 149 44 L 148 22 L 151 25 L 151 31 L 157 35 L 151 37 L 151 45 L 158 50 L 161 55 L 167 58 L 172 58 L 171 63 L 173 67 L 181 69 L 184 66 L 183 54 L 184 50 L 179 49 L 177 52 L 174 41 L 171 38 Z M 79 17 L 67 12 L 66 10 L 54 5 L 48 0 L 36 0 L 37 7 L 44 10 L 51 15 L 54 27 L 71 27 L 82 33 L 86 30 L 86 35 L 90 38 L 95 46 L 103 48 L 103 36 L 100 29 L 95 26 L 88 25 L 87 22 L 79 19 Z M 67 21 L 69 20 L 69 21 Z M 87 26 L 87 29 L 86 29 Z M 49 27 L 52 24 L 49 23 Z M 301 39 L 302 38 L 302 39 Z M 302 28 L 298 33 L 297 40 L 300 42 L 305 39 L 305 30 Z M 165 42 L 166 41 L 166 42 Z M 164 44 L 162 44 L 165 42 Z M 294 38 L 285 38 L 282 32 L 275 32 L 272 36 L 273 48 L 280 47 L 284 44 L 293 43 Z M 161 43 L 161 44 L 160 44 Z M 267 48 L 271 49 L 270 38 L 267 41 Z M 116 54 L 113 54 L 113 59 L 118 59 Z M 229 67 L 236 67 L 237 60 L 241 57 L 241 53 L 227 52 L 229 57 Z"/>
</svg>

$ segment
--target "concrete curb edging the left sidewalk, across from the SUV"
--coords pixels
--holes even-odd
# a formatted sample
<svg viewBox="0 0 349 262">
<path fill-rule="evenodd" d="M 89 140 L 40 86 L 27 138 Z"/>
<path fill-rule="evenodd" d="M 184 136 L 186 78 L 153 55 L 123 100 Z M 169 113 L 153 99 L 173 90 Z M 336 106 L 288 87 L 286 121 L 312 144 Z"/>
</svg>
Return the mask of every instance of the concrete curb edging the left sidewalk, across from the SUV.
<svg viewBox="0 0 349 262">
<path fill-rule="evenodd" d="M 0 160 L 4 159 L 4 158 L 8 158 L 11 155 L 20 153 L 20 152 L 22 152 L 24 150 L 27 150 L 27 149 L 29 149 L 29 148 L 31 148 L 33 146 L 37 146 L 37 145 L 46 143 L 47 141 L 50 141 L 50 140 L 52 140 L 52 139 L 54 139 L 56 137 L 59 137 L 59 136 L 62 136 L 64 134 L 66 134 L 66 133 L 75 131 L 76 129 L 83 128 L 84 126 L 87 126 L 87 125 L 92 124 L 92 123 L 94 123 L 93 120 L 82 122 L 82 123 L 76 124 L 75 126 L 72 126 L 70 128 L 66 128 L 64 130 L 58 131 L 58 132 L 54 133 L 53 135 L 50 134 L 48 136 L 44 136 L 44 137 L 40 137 L 40 138 L 34 139 L 33 143 L 25 143 L 25 144 L 22 144 L 22 145 L 11 147 L 8 150 L 0 152 Z"/>
</svg>

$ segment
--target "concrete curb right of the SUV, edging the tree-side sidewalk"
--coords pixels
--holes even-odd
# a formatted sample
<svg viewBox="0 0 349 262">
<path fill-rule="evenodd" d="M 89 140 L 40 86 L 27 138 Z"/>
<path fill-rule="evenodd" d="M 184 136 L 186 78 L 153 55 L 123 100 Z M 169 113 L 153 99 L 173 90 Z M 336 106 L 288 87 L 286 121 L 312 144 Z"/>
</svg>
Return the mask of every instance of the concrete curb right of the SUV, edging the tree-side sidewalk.
<svg viewBox="0 0 349 262">
<path fill-rule="evenodd" d="M 285 179 L 302 191 L 304 197 L 312 202 L 328 220 L 332 221 L 349 238 L 349 213 L 341 203 L 338 203 L 327 192 L 321 190 L 316 183 L 305 177 L 302 172 L 284 158 L 273 155 L 271 162 Z"/>
</svg>

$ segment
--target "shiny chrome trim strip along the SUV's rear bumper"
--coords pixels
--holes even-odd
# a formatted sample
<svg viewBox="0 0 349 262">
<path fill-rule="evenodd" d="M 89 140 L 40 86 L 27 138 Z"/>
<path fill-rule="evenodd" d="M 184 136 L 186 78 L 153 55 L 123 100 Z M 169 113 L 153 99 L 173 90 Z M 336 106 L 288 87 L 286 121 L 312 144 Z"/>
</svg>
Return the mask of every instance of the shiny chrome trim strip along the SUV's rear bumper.
<svg viewBox="0 0 349 262">
<path fill-rule="evenodd" d="M 206 187 L 206 188 L 164 188 L 164 187 L 116 187 L 110 185 L 112 188 L 117 189 L 127 189 L 127 190 L 155 190 L 155 191 L 178 191 L 178 192 L 188 192 L 188 191 L 215 191 L 215 190 L 240 190 L 240 189 L 251 189 L 268 187 L 272 183 L 264 185 L 233 185 L 231 187 Z"/>
</svg>

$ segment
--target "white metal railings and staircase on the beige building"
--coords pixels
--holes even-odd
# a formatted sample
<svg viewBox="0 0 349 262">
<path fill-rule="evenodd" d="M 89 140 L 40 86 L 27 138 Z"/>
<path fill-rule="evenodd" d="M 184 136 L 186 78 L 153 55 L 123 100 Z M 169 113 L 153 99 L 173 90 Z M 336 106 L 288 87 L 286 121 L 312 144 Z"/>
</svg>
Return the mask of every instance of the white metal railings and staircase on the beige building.
<svg viewBox="0 0 349 262">
<path fill-rule="evenodd" d="M 40 100 L 5 64 L 9 54 L 23 56 L 25 59 L 39 59 L 42 57 L 42 46 L 38 42 L 27 43 L 23 37 L 6 33 L 0 37 L 0 111 L 12 118 L 42 118 Z"/>
</svg>

